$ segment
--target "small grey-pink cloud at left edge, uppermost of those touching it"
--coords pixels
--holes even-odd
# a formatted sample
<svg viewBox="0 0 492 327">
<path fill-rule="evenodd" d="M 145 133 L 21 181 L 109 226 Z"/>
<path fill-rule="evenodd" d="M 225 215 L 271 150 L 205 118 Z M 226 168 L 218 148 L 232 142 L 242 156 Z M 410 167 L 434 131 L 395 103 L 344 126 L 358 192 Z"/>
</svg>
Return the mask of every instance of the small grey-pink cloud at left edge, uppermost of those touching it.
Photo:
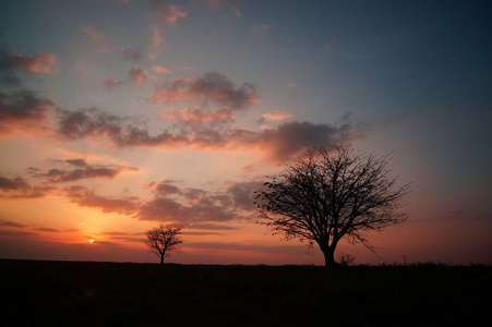
<svg viewBox="0 0 492 327">
<path fill-rule="evenodd" d="M 34 56 L 22 56 L 21 53 L 7 53 L 1 51 L 0 71 L 27 71 L 38 74 L 52 74 L 57 64 L 57 56 L 44 52 Z"/>
</svg>

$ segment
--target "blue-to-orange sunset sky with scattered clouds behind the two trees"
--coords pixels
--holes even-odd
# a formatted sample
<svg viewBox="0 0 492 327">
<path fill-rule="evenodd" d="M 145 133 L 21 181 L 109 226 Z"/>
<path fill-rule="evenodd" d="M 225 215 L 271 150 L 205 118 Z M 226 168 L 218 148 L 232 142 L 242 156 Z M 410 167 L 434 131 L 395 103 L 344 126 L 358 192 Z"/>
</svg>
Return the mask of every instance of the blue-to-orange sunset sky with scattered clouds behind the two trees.
<svg viewBox="0 0 492 327">
<path fill-rule="evenodd" d="M 305 146 L 391 154 L 409 220 L 356 264 L 492 264 L 492 2 L 2 0 L 0 257 L 314 264 L 255 223 Z"/>
</svg>

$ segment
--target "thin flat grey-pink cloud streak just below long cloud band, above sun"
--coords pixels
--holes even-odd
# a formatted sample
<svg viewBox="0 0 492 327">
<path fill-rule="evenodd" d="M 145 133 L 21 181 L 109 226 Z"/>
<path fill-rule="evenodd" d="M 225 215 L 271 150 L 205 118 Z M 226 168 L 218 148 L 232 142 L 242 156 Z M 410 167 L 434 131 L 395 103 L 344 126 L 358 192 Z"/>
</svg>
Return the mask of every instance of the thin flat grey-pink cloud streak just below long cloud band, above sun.
<svg viewBox="0 0 492 327">
<path fill-rule="evenodd" d="M 104 178 L 113 179 L 123 171 L 136 171 L 137 168 L 124 166 L 94 166 L 84 159 L 61 160 L 61 162 L 75 166 L 75 169 L 50 169 L 48 171 L 37 170 L 35 177 L 46 178 L 50 183 L 73 182 L 83 179 Z"/>
</svg>

